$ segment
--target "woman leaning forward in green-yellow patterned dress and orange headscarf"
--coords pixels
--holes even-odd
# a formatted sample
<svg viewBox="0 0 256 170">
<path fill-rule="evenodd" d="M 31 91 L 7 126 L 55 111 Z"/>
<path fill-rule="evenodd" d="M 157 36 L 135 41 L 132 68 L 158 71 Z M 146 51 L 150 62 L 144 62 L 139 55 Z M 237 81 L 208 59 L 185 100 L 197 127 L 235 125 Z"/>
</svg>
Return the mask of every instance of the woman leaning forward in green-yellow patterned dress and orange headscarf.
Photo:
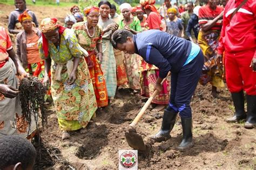
<svg viewBox="0 0 256 170">
<path fill-rule="evenodd" d="M 38 47 L 40 57 L 45 60 L 43 84 L 48 83 L 51 67 L 52 99 L 62 139 L 68 139 L 68 131 L 79 130 L 89 123 L 97 110 L 96 97 L 75 33 L 58 25 L 56 18 L 43 19 L 41 30 Z"/>
</svg>

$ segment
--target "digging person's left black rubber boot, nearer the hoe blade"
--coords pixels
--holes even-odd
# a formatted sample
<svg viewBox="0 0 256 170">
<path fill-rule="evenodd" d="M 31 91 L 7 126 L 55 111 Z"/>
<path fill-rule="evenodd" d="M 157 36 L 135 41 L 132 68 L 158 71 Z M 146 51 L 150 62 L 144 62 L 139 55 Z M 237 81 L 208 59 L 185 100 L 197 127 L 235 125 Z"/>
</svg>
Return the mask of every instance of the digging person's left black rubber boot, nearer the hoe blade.
<svg viewBox="0 0 256 170">
<path fill-rule="evenodd" d="M 176 117 L 177 117 L 177 112 L 174 111 L 169 111 L 169 110 L 164 110 L 164 117 L 161 125 L 160 131 L 151 137 L 157 142 L 167 140 L 171 138 L 170 132 L 173 129 L 173 126 L 176 122 Z"/>
</svg>

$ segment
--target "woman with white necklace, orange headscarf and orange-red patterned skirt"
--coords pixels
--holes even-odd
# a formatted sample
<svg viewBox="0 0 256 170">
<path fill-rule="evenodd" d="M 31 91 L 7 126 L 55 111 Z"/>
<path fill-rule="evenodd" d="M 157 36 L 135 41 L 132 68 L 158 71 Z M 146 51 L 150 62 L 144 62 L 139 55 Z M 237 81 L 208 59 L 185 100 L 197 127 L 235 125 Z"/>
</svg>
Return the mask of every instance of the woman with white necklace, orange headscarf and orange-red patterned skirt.
<svg viewBox="0 0 256 170">
<path fill-rule="evenodd" d="M 103 60 L 103 32 L 97 25 L 99 22 L 99 8 L 89 6 L 84 9 L 84 14 L 87 21 L 74 24 L 72 29 L 75 30 L 78 43 L 89 53 L 89 56 L 85 57 L 85 60 L 89 67 L 97 105 L 98 107 L 104 107 L 108 105 L 108 97 L 106 81 L 100 68 L 100 63 Z"/>
</svg>

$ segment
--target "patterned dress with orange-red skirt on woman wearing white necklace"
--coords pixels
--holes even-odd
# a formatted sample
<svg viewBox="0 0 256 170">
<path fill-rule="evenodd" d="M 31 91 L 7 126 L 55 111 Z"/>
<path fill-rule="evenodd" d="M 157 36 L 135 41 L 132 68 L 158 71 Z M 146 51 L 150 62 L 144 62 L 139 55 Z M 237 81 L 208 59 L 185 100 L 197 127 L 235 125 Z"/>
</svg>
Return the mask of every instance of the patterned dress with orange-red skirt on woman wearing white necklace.
<svg viewBox="0 0 256 170">
<path fill-rule="evenodd" d="M 89 67 L 97 104 L 98 107 L 104 107 L 108 105 L 106 81 L 95 51 L 97 43 L 102 43 L 103 32 L 102 29 L 95 26 L 95 34 L 90 38 L 85 31 L 84 24 L 85 22 L 76 23 L 72 29 L 75 31 L 78 43 L 89 53 L 89 57 L 86 57 L 85 60 Z"/>
</svg>

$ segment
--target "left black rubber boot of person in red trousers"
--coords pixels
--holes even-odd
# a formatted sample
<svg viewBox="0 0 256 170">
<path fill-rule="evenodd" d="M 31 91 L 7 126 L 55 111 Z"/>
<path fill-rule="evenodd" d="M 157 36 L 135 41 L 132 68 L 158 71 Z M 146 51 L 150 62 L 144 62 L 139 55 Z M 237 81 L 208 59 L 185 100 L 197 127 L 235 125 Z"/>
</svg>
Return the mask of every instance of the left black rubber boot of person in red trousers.
<svg viewBox="0 0 256 170">
<path fill-rule="evenodd" d="M 235 107 L 235 113 L 233 117 L 226 119 L 228 123 L 234 123 L 246 118 L 244 91 L 231 93 L 231 96 Z"/>
</svg>

